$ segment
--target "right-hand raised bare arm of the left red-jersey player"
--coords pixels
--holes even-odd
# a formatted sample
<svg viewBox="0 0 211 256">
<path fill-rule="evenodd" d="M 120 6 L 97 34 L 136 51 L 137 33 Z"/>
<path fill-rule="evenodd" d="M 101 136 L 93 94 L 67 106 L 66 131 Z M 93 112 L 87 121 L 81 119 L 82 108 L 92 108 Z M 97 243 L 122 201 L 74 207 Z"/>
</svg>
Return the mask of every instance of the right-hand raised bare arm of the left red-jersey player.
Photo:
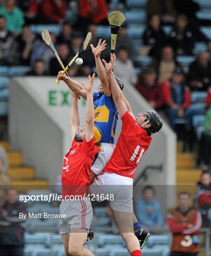
<svg viewBox="0 0 211 256">
<path fill-rule="evenodd" d="M 94 103 L 93 103 L 93 82 L 94 82 L 95 73 L 91 77 L 89 75 L 89 83 L 84 85 L 84 88 L 87 93 L 87 103 L 86 103 L 86 141 L 89 142 L 94 136 Z"/>
</svg>

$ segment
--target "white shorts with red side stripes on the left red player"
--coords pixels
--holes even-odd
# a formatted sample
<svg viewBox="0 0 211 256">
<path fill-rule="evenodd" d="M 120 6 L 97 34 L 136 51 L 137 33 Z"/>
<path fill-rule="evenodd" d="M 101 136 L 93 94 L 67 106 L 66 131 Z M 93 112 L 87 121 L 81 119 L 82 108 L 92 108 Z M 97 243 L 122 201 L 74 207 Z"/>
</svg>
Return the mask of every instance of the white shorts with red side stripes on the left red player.
<svg viewBox="0 0 211 256">
<path fill-rule="evenodd" d="M 65 214 L 66 218 L 59 219 L 59 233 L 69 233 L 71 229 L 89 230 L 93 220 L 93 208 L 91 201 L 61 201 L 59 206 L 60 214 Z"/>
</svg>

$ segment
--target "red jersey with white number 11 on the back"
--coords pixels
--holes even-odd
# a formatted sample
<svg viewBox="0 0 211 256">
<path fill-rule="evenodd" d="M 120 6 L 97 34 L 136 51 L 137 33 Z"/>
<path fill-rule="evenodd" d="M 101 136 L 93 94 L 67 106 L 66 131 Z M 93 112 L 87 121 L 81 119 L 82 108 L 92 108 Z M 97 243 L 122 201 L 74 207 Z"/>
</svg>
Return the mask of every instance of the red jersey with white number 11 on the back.
<svg viewBox="0 0 211 256">
<path fill-rule="evenodd" d="M 122 131 L 117 146 L 104 170 L 122 176 L 134 178 L 142 155 L 150 146 L 152 137 L 138 126 L 133 116 L 127 111 L 122 117 Z"/>
</svg>

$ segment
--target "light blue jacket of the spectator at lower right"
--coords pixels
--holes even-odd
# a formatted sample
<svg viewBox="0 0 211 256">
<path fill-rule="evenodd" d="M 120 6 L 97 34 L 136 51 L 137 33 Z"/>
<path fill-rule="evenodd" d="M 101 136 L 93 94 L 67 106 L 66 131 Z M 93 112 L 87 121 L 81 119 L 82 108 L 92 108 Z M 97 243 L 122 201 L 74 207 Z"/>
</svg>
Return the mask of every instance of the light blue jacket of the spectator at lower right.
<svg viewBox="0 0 211 256">
<path fill-rule="evenodd" d="M 148 203 L 143 199 L 138 200 L 136 212 L 141 225 L 148 229 L 153 229 L 154 226 L 162 228 L 164 219 L 159 201 L 153 199 Z"/>
</svg>

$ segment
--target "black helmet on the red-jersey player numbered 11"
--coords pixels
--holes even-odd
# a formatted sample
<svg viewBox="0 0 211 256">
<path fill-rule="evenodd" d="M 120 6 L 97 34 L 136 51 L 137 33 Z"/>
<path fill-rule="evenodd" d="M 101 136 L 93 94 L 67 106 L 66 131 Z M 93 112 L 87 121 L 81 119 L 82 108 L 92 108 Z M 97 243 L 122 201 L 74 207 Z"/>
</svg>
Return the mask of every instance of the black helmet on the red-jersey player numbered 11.
<svg viewBox="0 0 211 256">
<path fill-rule="evenodd" d="M 142 127 L 145 124 L 151 124 L 149 128 L 144 128 L 144 130 L 146 130 L 149 134 L 159 132 L 163 126 L 162 120 L 160 119 L 159 115 L 154 110 L 143 111 L 139 114 L 144 113 L 147 115 L 147 118 L 144 120 L 145 122 L 142 124 Z"/>
</svg>

